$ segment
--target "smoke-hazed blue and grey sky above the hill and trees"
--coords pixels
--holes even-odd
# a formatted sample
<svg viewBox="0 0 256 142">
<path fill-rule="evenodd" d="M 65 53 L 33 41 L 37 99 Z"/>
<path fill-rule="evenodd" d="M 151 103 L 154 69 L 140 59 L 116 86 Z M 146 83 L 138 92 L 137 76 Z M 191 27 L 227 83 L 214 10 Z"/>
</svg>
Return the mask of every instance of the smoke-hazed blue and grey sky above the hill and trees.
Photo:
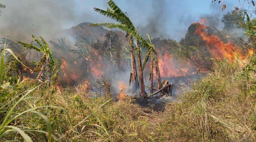
<svg viewBox="0 0 256 142">
<path fill-rule="evenodd" d="M 128 13 L 142 35 L 180 40 L 190 24 L 207 18 L 222 27 L 221 17 L 240 7 L 239 0 L 114 0 Z M 242 0 L 240 0 L 242 1 Z M 94 11 L 106 10 L 108 0 L 2 0 L 0 36 L 27 39 L 31 34 L 50 36 L 82 22 L 113 22 Z M 227 8 L 223 11 L 222 5 Z M 245 7 L 248 6 L 245 2 Z"/>
</svg>

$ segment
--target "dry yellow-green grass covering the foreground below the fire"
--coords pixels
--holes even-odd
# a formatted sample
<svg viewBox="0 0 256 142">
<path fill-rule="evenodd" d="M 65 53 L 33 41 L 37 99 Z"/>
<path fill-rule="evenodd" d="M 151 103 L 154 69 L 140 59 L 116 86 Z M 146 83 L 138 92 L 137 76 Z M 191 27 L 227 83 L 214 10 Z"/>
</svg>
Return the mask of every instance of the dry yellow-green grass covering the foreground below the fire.
<svg viewBox="0 0 256 142">
<path fill-rule="evenodd" d="M 93 99 L 84 92 L 51 94 L 42 90 L 33 94 L 39 99 L 28 100 L 22 107 L 54 105 L 68 110 L 73 127 L 62 110 L 39 110 L 48 116 L 60 141 L 255 141 L 255 94 L 247 93 L 247 81 L 241 74 L 238 66 L 219 63 L 192 90 L 184 92 L 179 102 L 166 104 L 164 112 L 142 108 L 130 97 L 114 102 L 105 97 Z M 48 95 L 39 97 L 42 94 Z M 32 113 L 20 122 L 47 129 Z M 47 141 L 45 135 L 33 138 Z"/>
</svg>

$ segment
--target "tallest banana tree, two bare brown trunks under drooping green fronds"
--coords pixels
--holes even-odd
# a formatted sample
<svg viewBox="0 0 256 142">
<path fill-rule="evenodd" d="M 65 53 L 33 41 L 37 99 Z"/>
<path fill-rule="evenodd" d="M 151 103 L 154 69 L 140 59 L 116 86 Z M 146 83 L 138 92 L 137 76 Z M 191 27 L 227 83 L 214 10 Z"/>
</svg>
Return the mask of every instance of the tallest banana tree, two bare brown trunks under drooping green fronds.
<svg viewBox="0 0 256 142">
<path fill-rule="evenodd" d="M 143 79 L 143 71 L 142 71 L 142 62 L 140 57 L 140 46 L 149 47 L 146 40 L 143 39 L 135 29 L 133 23 L 130 21 L 128 16 L 124 14 L 124 12 L 112 1 L 108 2 L 110 8 L 107 8 L 106 11 L 101 10 L 99 8 L 94 8 L 96 12 L 100 12 L 100 14 L 110 17 L 118 22 L 118 24 L 114 23 L 100 23 L 100 24 L 91 24 L 91 26 L 105 26 L 107 28 L 118 28 L 123 30 L 129 36 L 130 43 L 130 53 L 131 53 L 131 66 L 132 66 L 132 80 L 133 80 L 133 90 L 137 87 L 138 77 L 137 77 L 137 69 L 135 64 L 135 56 L 134 56 L 134 41 L 133 37 L 137 41 L 137 54 L 138 54 L 138 65 L 139 65 L 139 85 L 140 85 L 140 95 L 146 96 L 145 87 L 144 87 L 144 79 Z"/>
</svg>

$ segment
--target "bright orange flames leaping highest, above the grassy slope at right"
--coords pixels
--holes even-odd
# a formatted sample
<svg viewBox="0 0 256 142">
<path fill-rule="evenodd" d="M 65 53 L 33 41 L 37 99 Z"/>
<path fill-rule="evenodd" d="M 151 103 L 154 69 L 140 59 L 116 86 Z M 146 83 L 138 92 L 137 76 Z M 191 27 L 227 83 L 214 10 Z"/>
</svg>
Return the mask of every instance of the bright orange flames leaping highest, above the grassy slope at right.
<svg viewBox="0 0 256 142">
<path fill-rule="evenodd" d="M 197 29 L 194 34 L 201 36 L 202 40 L 206 42 L 206 46 L 214 58 L 226 58 L 229 62 L 234 63 L 235 59 L 245 61 L 247 55 L 242 52 L 242 49 L 237 48 L 232 43 L 224 43 L 218 36 L 207 35 L 206 26 L 200 23 L 197 24 Z"/>
</svg>

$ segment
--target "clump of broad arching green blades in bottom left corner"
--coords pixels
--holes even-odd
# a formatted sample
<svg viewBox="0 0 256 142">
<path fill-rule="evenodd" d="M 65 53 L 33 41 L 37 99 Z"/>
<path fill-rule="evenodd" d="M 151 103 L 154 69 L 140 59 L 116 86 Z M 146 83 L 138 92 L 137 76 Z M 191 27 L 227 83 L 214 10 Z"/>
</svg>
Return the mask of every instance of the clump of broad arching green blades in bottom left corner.
<svg viewBox="0 0 256 142">
<path fill-rule="evenodd" d="M 11 99 L 10 101 L 6 101 L 5 103 L 0 102 L 0 104 L 1 104 L 0 111 L 5 113 L 4 116 L 0 115 L 0 123 L 1 123 L 1 125 L 0 125 L 0 140 L 8 140 L 9 138 L 12 138 L 12 140 L 15 140 L 15 137 L 17 137 L 17 136 L 14 137 L 14 135 L 16 132 L 18 132 L 23 137 L 23 139 L 25 141 L 32 142 L 32 137 L 29 136 L 26 132 L 28 132 L 29 134 L 32 134 L 33 137 L 36 136 L 36 134 L 34 134 L 34 132 L 37 132 L 37 133 L 41 133 L 41 134 L 46 134 L 48 142 L 51 142 L 52 138 L 55 141 L 59 141 L 58 137 L 52 134 L 52 125 L 51 125 L 49 118 L 45 114 L 43 114 L 41 112 L 37 112 L 36 110 L 40 110 L 42 108 L 59 108 L 65 112 L 65 110 L 63 108 L 45 105 L 45 106 L 31 106 L 31 108 L 27 108 L 26 110 L 22 110 L 22 109 L 18 110 L 17 109 L 19 107 L 24 107 L 24 108 L 26 107 L 26 105 L 21 105 L 22 104 L 21 102 L 36 101 L 38 99 L 37 97 L 28 96 L 36 88 L 38 88 L 38 87 L 34 87 L 30 90 L 27 90 L 27 91 L 23 92 L 23 93 L 25 93 L 24 95 L 22 95 L 23 93 L 21 93 L 20 95 L 15 96 L 13 99 Z M 40 127 L 38 127 L 39 125 L 35 125 L 35 127 L 31 127 L 32 126 L 30 124 L 31 120 L 27 121 L 24 124 L 22 123 L 22 125 L 13 123 L 14 121 L 16 122 L 20 118 L 26 118 L 25 114 L 28 115 L 30 113 L 33 113 L 33 114 L 36 114 L 37 116 L 39 116 L 38 120 L 40 120 L 40 118 L 43 119 L 43 122 L 46 124 L 47 131 L 38 129 L 38 128 L 40 128 Z M 69 114 L 68 113 L 66 113 L 66 114 L 69 117 Z M 33 117 L 35 118 L 36 116 L 33 116 Z M 33 119 L 33 118 L 30 118 L 30 119 Z M 24 120 L 26 121 L 26 119 L 24 119 Z M 37 123 L 41 123 L 41 122 L 37 122 Z"/>
</svg>

